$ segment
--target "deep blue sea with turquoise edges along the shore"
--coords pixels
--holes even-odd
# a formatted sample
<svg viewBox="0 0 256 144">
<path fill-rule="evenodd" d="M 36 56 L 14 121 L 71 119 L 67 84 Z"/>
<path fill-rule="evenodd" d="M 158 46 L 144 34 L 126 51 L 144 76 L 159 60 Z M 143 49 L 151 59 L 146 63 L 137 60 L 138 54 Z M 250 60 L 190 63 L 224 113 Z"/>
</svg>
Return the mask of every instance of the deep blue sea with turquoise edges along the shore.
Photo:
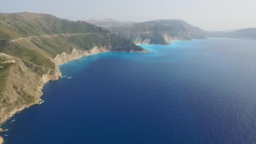
<svg viewBox="0 0 256 144">
<path fill-rule="evenodd" d="M 256 143 L 256 40 L 141 46 L 60 65 L 6 144 Z"/>
</svg>

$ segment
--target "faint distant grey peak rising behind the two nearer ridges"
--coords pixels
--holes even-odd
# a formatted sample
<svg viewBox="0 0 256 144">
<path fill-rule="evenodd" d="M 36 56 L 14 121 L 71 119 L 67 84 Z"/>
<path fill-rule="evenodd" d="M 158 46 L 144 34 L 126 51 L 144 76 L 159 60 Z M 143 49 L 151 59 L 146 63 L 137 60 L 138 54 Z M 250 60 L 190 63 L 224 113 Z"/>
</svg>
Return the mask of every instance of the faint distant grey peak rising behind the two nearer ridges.
<svg viewBox="0 0 256 144">
<path fill-rule="evenodd" d="M 87 20 L 86 22 L 91 23 L 92 25 L 96 25 L 104 28 L 124 26 L 124 25 L 129 25 L 130 23 L 133 23 L 132 21 L 120 22 L 114 19 L 104 19 L 104 20 L 91 19 L 91 20 Z"/>
</svg>

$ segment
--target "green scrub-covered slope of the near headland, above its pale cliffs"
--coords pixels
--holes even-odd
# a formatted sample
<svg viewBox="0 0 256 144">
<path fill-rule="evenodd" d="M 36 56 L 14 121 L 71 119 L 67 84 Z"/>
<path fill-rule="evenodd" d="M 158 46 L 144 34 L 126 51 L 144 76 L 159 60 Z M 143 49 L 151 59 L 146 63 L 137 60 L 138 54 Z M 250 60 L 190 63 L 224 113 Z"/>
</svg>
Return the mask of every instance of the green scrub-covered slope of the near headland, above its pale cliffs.
<svg viewBox="0 0 256 144">
<path fill-rule="evenodd" d="M 50 58 L 63 52 L 71 53 L 74 48 L 90 50 L 94 46 L 107 46 L 110 51 L 143 50 L 107 29 L 84 21 L 69 21 L 48 14 L 0 14 L 0 52 L 27 62 L 54 69 Z"/>
</svg>

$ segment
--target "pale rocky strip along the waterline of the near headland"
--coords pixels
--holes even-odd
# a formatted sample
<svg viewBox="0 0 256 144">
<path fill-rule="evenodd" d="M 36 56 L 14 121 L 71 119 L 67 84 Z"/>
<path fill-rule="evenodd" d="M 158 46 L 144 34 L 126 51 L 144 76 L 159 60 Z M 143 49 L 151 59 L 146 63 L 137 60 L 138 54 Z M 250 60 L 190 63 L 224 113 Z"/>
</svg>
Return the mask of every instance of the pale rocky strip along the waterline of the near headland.
<svg viewBox="0 0 256 144">
<path fill-rule="evenodd" d="M 42 95 L 43 95 L 42 89 L 44 87 L 44 84 L 48 83 L 49 81 L 59 80 L 62 77 L 62 74 L 61 74 L 60 69 L 59 69 L 59 65 L 69 63 L 71 61 L 75 61 L 76 59 L 83 58 L 83 57 L 86 57 L 86 56 L 96 55 L 98 53 L 105 53 L 105 52 L 129 52 L 129 51 L 108 51 L 106 49 L 106 47 L 93 47 L 89 51 L 82 51 L 82 50 L 73 49 L 73 51 L 71 53 L 63 52 L 63 53 L 61 53 L 61 55 L 57 55 L 53 59 L 53 62 L 56 64 L 56 68 L 54 70 L 55 73 L 53 75 L 44 74 L 40 78 L 43 85 L 39 86 L 39 90 L 38 90 L 38 93 L 40 93 L 39 100 L 35 101 L 34 103 L 31 103 L 31 104 L 28 104 L 28 105 L 25 105 L 25 106 L 21 106 L 19 109 L 14 109 L 13 111 L 11 111 L 8 118 L 5 119 L 2 123 L 0 123 L 0 128 L 2 127 L 3 124 L 5 124 L 10 118 L 12 118 L 17 113 L 22 112 L 25 109 L 27 109 L 27 108 L 29 108 L 33 105 L 42 104 L 44 102 L 42 99 L 40 99 L 40 97 L 42 97 Z M 147 53 L 147 52 L 149 52 L 149 51 L 147 51 L 147 50 L 130 51 L 129 53 Z M 2 131 L 2 132 L 4 132 L 4 131 Z M 0 136 L 0 144 L 3 144 L 3 143 L 4 143 L 4 139 L 3 139 L 3 137 Z"/>
</svg>

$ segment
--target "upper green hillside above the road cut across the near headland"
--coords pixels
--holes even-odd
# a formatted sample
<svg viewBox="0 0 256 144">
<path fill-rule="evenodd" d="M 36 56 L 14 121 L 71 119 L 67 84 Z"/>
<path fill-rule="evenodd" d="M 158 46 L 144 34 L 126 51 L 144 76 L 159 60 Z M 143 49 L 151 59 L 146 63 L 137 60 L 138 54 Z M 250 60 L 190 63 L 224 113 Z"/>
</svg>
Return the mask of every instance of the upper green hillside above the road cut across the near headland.
<svg viewBox="0 0 256 144">
<path fill-rule="evenodd" d="M 16 39 L 60 33 L 106 33 L 106 29 L 84 21 L 69 21 L 48 14 L 0 14 L 1 39 Z"/>
</svg>

